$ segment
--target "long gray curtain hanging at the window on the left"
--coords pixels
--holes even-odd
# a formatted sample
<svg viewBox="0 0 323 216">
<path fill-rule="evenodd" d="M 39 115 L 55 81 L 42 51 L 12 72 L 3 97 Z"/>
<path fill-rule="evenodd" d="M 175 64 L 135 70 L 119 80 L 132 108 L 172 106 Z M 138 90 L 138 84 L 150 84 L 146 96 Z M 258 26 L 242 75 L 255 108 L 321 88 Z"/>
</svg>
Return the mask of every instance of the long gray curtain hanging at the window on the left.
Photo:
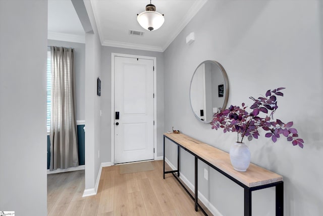
<svg viewBox="0 0 323 216">
<path fill-rule="evenodd" d="M 74 50 L 50 47 L 50 170 L 78 166 Z"/>
</svg>

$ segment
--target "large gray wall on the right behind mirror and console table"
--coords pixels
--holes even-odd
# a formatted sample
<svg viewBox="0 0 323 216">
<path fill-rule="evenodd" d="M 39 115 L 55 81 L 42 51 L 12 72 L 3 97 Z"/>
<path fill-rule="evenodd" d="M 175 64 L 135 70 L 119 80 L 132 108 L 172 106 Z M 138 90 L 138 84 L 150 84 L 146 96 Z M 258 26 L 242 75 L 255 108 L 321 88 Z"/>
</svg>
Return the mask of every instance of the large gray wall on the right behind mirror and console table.
<svg viewBox="0 0 323 216">
<path fill-rule="evenodd" d="M 323 30 L 322 1 L 208 1 L 164 52 L 165 131 L 184 134 L 229 151 L 236 134 L 223 134 L 195 119 L 189 104 L 189 85 L 204 60 L 219 61 L 230 82 L 230 104 L 251 105 L 250 96 L 286 87 L 275 118 L 294 121 L 304 149 L 286 139 L 277 143 L 261 137 L 245 141 L 251 162 L 284 176 L 284 215 L 323 215 Z M 185 37 L 195 32 L 187 45 Z M 176 92 L 177 94 L 172 94 Z M 176 164 L 170 143 L 167 157 Z M 194 184 L 194 159 L 183 152 L 182 174 Z M 223 215 L 243 215 L 243 189 L 209 169 L 200 192 Z M 234 206 L 234 207 L 233 207 Z M 275 190 L 253 192 L 253 215 L 275 215 Z"/>
</svg>

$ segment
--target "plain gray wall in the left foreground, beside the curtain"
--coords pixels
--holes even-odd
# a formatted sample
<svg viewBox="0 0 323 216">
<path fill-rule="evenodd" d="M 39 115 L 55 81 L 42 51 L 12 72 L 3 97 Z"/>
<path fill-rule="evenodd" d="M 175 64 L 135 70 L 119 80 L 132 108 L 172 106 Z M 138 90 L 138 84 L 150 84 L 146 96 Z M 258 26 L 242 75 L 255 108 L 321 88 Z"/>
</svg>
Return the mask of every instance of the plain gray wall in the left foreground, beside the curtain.
<svg viewBox="0 0 323 216">
<path fill-rule="evenodd" d="M 16 215 L 47 215 L 46 46 L 47 1 L 0 1 L 0 210 Z"/>
</svg>

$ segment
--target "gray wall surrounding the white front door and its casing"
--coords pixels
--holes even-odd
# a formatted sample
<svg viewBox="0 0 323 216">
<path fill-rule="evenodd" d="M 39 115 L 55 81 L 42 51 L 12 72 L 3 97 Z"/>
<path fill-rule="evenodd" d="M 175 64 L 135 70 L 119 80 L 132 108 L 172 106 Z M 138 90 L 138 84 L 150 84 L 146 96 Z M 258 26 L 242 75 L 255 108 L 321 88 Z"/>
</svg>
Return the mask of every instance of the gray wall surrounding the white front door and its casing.
<svg viewBox="0 0 323 216">
<path fill-rule="evenodd" d="M 156 57 L 157 156 L 163 155 L 164 133 L 164 56 L 163 53 L 102 47 L 101 49 L 101 162 L 111 161 L 111 54 L 120 53 Z"/>
</svg>

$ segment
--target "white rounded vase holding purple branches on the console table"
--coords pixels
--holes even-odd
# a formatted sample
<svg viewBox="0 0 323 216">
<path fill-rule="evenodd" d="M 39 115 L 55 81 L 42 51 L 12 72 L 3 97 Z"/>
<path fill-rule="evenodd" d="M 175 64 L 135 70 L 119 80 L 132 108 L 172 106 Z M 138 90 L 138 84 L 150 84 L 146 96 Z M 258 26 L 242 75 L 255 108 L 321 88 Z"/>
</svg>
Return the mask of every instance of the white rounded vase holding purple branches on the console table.
<svg viewBox="0 0 323 216">
<path fill-rule="evenodd" d="M 244 143 L 235 143 L 230 148 L 230 160 L 233 168 L 245 172 L 249 167 L 251 154 L 248 146 Z"/>
</svg>

